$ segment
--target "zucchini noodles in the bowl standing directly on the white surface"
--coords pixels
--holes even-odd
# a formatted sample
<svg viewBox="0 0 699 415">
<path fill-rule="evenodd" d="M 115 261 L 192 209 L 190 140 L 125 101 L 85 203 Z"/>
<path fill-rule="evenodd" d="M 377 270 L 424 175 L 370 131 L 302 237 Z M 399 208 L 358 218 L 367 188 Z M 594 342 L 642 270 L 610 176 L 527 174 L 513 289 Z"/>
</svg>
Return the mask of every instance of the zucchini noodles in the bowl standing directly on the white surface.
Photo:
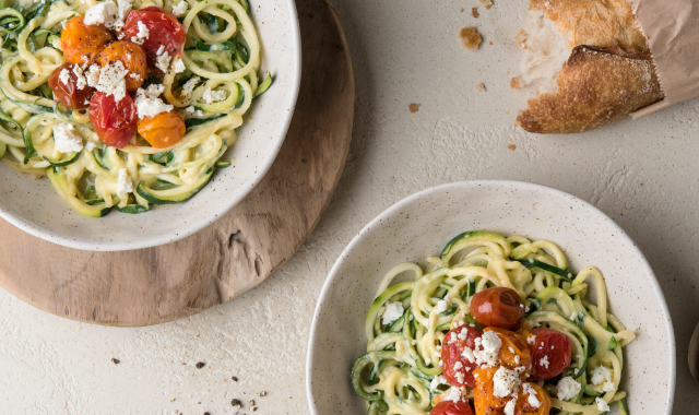
<svg viewBox="0 0 699 415">
<path fill-rule="evenodd" d="M 425 266 L 399 264 L 379 284 L 365 323 L 367 354 L 355 361 L 351 375 L 355 391 L 369 402 L 369 414 L 424 415 L 451 394 L 452 387 L 431 382 L 442 374 L 442 341 L 452 322 L 473 321 L 471 299 L 488 287 L 514 289 L 524 300 L 529 324 L 548 327 L 570 339 L 570 367 L 540 383 L 554 408 L 568 415 L 597 415 L 603 413 L 599 399 L 627 413 L 626 392 L 619 390 L 621 348 L 636 335 L 608 312 L 600 271 L 589 266 L 570 273 L 565 254 L 549 241 L 469 232 L 452 239 L 439 257 L 428 258 Z M 451 307 L 438 310 L 443 300 Z M 400 310 L 395 303 L 403 315 L 394 312 L 391 321 L 383 321 L 389 305 Z M 600 374 L 608 375 L 604 382 Z M 556 387 L 565 377 L 573 378 L 581 390 L 560 400 Z M 473 400 L 473 390 L 466 388 L 463 396 Z"/>
</svg>

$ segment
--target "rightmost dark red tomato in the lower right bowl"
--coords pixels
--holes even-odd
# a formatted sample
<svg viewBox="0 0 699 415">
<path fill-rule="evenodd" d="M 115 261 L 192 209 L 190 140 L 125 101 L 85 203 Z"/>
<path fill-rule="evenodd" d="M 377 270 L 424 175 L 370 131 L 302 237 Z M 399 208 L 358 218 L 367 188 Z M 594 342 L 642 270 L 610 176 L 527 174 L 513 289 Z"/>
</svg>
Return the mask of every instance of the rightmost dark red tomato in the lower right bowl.
<svg viewBox="0 0 699 415">
<path fill-rule="evenodd" d="M 562 374 L 570 366 L 570 339 L 564 333 L 541 328 L 531 331 L 536 336 L 532 349 L 532 370 L 535 380 L 548 380 Z"/>
</svg>

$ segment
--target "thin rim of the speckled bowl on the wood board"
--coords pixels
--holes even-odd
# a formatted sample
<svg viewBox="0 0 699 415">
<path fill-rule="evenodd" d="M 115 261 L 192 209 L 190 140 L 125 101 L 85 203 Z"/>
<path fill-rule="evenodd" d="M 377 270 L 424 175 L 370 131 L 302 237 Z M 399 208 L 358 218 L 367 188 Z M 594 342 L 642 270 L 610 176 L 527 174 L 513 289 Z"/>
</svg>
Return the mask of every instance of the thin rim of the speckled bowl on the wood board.
<svg viewBox="0 0 699 415">
<path fill-rule="evenodd" d="M 293 74 L 293 79 L 291 81 L 291 90 L 288 96 L 291 98 L 289 103 L 291 109 L 283 111 L 282 116 L 282 130 L 281 134 L 277 139 L 277 143 L 274 149 L 270 152 L 270 156 L 264 161 L 264 163 L 260 164 L 259 168 L 257 168 L 257 173 L 252 175 L 251 182 L 252 186 L 246 185 L 244 191 L 241 191 L 236 198 L 228 199 L 225 203 L 221 205 L 220 209 L 211 212 L 211 218 L 220 218 L 233 208 L 235 208 L 238 203 L 242 201 L 251 191 L 254 189 L 264 178 L 266 173 L 272 167 L 274 161 L 276 161 L 276 156 L 279 155 L 282 145 L 286 139 L 286 134 L 292 124 L 292 118 L 294 116 L 294 111 L 296 109 L 296 104 L 298 100 L 298 93 L 300 91 L 301 83 L 301 33 L 298 23 L 298 12 L 296 10 L 295 0 L 286 0 L 289 10 L 289 23 L 291 23 L 291 38 L 292 44 L 296 47 L 297 52 L 294 55 L 294 61 L 292 62 L 292 68 L 295 68 L 296 71 Z M 144 248 L 153 248 L 162 245 L 175 242 L 177 240 L 183 239 L 188 236 L 191 236 L 199 230 L 212 225 L 215 221 L 199 221 L 198 223 L 192 223 L 191 225 L 186 225 L 181 229 L 177 229 L 177 233 L 171 234 L 163 234 L 159 236 L 153 237 L 141 237 L 138 240 L 121 242 L 121 241 L 110 241 L 105 240 L 100 242 L 94 241 L 81 241 L 74 238 L 64 237 L 60 235 L 52 234 L 49 229 L 37 228 L 32 222 L 24 220 L 22 216 L 15 215 L 9 211 L 0 209 L 0 217 L 15 226 L 16 228 L 26 232 L 27 234 L 35 236 L 37 238 L 44 239 L 49 242 L 54 242 L 57 245 L 61 245 L 67 248 L 80 249 L 80 250 L 90 250 L 90 251 L 127 251 L 127 250 L 135 250 L 135 249 L 144 249 Z"/>
</svg>

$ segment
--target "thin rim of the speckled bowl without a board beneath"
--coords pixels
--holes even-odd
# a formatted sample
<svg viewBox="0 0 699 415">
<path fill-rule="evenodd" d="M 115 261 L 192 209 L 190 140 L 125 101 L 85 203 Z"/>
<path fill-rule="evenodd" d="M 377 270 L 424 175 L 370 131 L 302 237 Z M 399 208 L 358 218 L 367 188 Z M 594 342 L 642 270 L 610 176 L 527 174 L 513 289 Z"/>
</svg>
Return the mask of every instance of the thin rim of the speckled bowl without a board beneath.
<svg viewBox="0 0 699 415">
<path fill-rule="evenodd" d="M 671 348 L 670 379 L 667 383 L 668 401 L 667 401 L 666 415 L 672 415 L 673 405 L 675 402 L 675 382 L 677 378 L 677 346 L 675 343 L 675 330 L 673 328 L 672 316 L 670 313 L 670 309 L 667 308 L 667 301 L 665 300 L 665 295 L 663 293 L 663 289 L 660 286 L 660 283 L 657 282 L 657 277 L 655 276 L 653 269 L 649 264 L 648 260 L 645 259 L 645 256 L 643 254 L 643 252 L 641 252 L 638 245 L 633 241 L 633 239 L 631 239 L 631 237 L 626 233 L 626 230 L 624 230 L 621 226 L 619 226 L 606 213 L 602 212 L 592 203 L 589 203 L 585 200 L 582 200 L 562 190 L 554 189 L 543 185 L 536 185 L 536 183 L 526 182 L 526 181 L 497 180 L 497 179 L 453 181 L 453 182 L 448 182 L 443 185 L 433 186 L 427 189 L 415 192 L 413 194 L 410 194 L 406 198 L 395 202 L 390 208 L 381 212 L 374 220 L 371 220 L 371 222 L 369 222 L 366 226 L 364 226 L 362 230 L 359 230 L 359 233 L 357 233 L 357 235 L 355 235 L 350 241 L 350 244 L 342 250 L 342 252 L 337 257 L 337 260 L 330 269 L 330 272 L 328 273 L 328 277 L 325 278 L 325 282 L 323 283 L 323 287 L 320 292 L 320 296 L 318 297 L 318 301 L 316 303 L 316 308 L 313 310 L 313 319 L 311 321 L 311 327 L 310 327 L 308 348 L 306 352 L 306 399 L 308 401 L 310 413 L 312 415 L 319 415 L 318 408 L 316 407 L 316 401 L 313 400 L 313 389 L 312 389 L 312 375 L 313 375 L 312 360 L 316 354 L 316 334 L 318 331 L 318 319 L 321 312 L 323 311 L 323 308 L 325 307 L 324 305 L 327 304 L 328 297 L 330 296 L 333 282 L 337 277 L 337 273 L 340 272 L 340 269 L 347 261 L 352 252 L 362 242 L 365 236 L 369 234 L 369 232 L 371 232 L 376 227 L 382 226 L 382 224 L 389 217 L 393 216 L 396 212 L 402 210 L 403 206 L 411 204 L 416 200 L 424 199 L 425 197 L 434 192 L 441 192 L 446 189 L 457 190 L 459 188 L 465 189 L 465 188 L 473 188 L 478 186 L 510 186 L 510 187 L 530 188 L 532 190 L 540 190 L 540 191 L 550 192 L 560 197 L 572 198 L 574 201 L 581 203 L 583 206 L 591 209 L 593 212 L 600 214 L 603 218 L 606 218 L 607 221 L 609 221 L 609 223 L 613 226 L 616 226 L 616 228 L 618 229 L 619 236 L 621 238 L 625 238 L 628 242 L 631 244 L 632 251 L 635 251 L 635 253 L 638 254 L 638 257 L 641 260 L 641 266 L 651 276 L 651 284 L 653 286 L 653 290 L 655 292 L 655 295 L 659 297 L 660 306 L 664 315 L 665 328 L 667 330 L 667 335 L 668 335 L 668 347 Z"/>
</svg>

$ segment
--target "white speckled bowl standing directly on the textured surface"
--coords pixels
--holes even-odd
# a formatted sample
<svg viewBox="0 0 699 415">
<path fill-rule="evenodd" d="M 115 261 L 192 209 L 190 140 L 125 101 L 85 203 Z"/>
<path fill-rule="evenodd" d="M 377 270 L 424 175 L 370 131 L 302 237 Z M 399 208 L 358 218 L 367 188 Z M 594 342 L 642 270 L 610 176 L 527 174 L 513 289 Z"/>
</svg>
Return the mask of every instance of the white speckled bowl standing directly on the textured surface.
<svg viewBox="0 0 699 415">
<path fill-rule="evenodd" d="M 612 312 L 638 339 L 625 348 L 621 389 L 631 414 L 671 414 L 675 335 L 663 293 L 629 236 L 573 195 L 518 181 L 463 181 L 415 193 L 371 221 L 330 271 L 316 307 L 306 363 L 311 414 L 365 414 L 350 370 L 366 353 L 364 321 L 382 276 L 403 261 L 437 254 L 464 230 L 548 239 L 572 270 L 597 266 Z M 614 410 L 617 411 L 617 410 Z"/>
</svg>

